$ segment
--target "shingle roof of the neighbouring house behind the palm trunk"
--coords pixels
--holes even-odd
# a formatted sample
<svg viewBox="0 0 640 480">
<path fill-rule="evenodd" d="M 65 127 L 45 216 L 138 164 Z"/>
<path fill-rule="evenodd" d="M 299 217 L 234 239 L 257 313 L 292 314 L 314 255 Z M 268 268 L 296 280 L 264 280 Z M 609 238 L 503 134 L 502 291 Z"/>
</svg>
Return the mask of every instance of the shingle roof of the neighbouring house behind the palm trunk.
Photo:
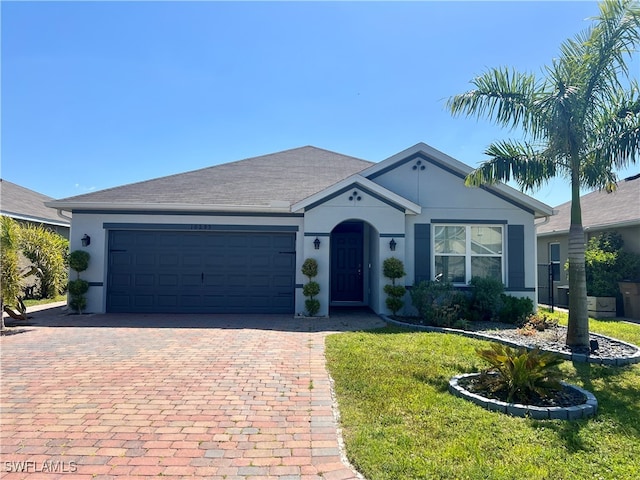
<svg viewBox="0 0 640 480">
<path fill-rule="evenodd" d="M 580 206 L 582 226 L 586 230 L 640 224 L 640 175 L 618 182 L 617 190 L 612 193 L 602 190 L 583 195 Z M 538 235 L 569 231 L 571 202 L 554 210 L 558 213 L 538 227 Z"/>
</svg>

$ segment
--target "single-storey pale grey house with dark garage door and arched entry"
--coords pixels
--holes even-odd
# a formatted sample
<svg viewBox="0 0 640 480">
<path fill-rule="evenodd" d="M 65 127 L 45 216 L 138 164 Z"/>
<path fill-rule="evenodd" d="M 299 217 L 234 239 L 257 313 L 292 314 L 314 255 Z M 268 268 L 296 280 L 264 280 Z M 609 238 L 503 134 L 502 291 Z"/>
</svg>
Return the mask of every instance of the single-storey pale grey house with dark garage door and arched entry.
<svg viewBox="0 0 640 480">
<path fill-rule="evenodd" d="M 48 205 L 73 213 L 71 250 L 91 254 L 92 312 L 302 314 L 307 258 L 319 315 L 387 312 L 392 256 L 406 285 L 491 275 L 535 299 L 534 219 L 551 208 L 505 185 L 467 188 L 470 171 L 425 144 L 380 163 L 302 147 Z"/>
</svg>

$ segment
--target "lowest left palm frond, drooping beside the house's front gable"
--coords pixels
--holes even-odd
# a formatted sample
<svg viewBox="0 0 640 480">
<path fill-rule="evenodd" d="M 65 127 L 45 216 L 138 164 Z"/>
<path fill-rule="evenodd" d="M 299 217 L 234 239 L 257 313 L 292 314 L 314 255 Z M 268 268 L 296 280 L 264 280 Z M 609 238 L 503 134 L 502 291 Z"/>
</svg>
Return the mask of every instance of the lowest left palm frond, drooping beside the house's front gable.
<svg viewBox="0 0 640 480">
<path fill-rule="evenodd" d="M 465 185 L 478 187 L 513 180 L 523 191 L 533 191 L 554 177 L 558 170 L 555 159 L 527 143 L 497 142 L 484 153 L 491 157 L 490 160 L 467 175 Z"/>
</svg>

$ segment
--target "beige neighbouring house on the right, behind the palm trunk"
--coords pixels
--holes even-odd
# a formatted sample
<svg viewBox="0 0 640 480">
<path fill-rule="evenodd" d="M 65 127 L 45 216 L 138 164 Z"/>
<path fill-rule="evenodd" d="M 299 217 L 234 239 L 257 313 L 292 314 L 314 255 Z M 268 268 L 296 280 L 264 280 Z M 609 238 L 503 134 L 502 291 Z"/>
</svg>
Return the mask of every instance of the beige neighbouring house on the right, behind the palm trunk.
<svg viewBox="0 0 640 480">
<path fill-rule="evenodd" d="M 618 188 L 611 193 L 597 190 L 580 197 L 582 225 L 585 243 L 604 232 L 617 232 L 622 236 L 624 249 L 640 254 L 640 175 L 618 182 Z M 571 202 L 554 208 L 556 214 L 537 229 L 538 263 L 540 285 L 547 286 L 544 279 L 546 265 L 551 264 L 554 303 L 568 304 L 567 262 Z M 540 303 L 549 303 L 546 288 L 539 290 Z"/>
</svg>

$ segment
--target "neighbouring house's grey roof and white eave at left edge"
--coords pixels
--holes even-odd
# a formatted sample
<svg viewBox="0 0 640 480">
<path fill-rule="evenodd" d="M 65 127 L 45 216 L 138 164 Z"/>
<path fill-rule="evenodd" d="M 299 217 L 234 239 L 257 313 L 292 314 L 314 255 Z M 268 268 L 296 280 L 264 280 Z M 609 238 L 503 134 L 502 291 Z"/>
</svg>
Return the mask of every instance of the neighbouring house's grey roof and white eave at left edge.
<svg viewBox="0 0 640 480">
<path fill-rule="evenodd" d="M 0 179 L 0 215 L 25 224 L 42 225 L 68 239 L 71 222 L 45 205 L 51 200 L 53 198 Z"/>
</svg>

